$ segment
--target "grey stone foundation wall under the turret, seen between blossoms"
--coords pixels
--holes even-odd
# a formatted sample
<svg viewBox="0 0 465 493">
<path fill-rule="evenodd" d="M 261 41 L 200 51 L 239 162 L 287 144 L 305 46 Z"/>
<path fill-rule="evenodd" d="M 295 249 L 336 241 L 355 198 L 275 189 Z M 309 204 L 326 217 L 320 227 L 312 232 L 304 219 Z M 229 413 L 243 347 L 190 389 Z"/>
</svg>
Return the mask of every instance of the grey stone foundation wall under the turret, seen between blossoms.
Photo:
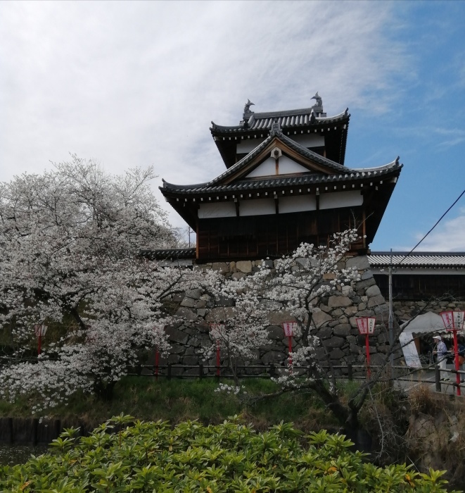
<svg viewBox="0 0 465 493">
<path fill-rule="evenodd" d="M 273 261 L 266 262 L 269 262 L 270 267 L 273 266 Z M 238 279 L 255 272 L 261 263 L 262 261 L 221 262 L 203 264 L 200 268 L 219 270 L 227 277 Z M 336 293 L 321 299 L 320 311 L 314 313 L 313 316 L 316 328 L 312 334 L 317 335 L 321 343 L 317 349 L 317 357 L 320 361 L 330 361 L 335 366 L 347 366 L 348 363 L 363 365 L 365 337 L 359 335 L 355 319 L 362 316 L 374 316 L 376 317 L 376 328 L 374 335 L 369 338 L 370 356 L 371 364 L 380 364 L 389 348 L 388 304 L 376 285 L 366 256 L 347 258 L 339 267 L 344 268 L 345 266 L 356 266 L 361 280 L 353 283 L 352 286 L 338 287 Z M 325 279 L 329 282 L 333 279 L 333 275 L 328 274 Z M 215 302 L 200 289 L 194 289 L 184 296 L 173 297 L 171 303 L 174 309 L 177 308 L 177 315 L 183 318 L 183 321 L 167 327 L 172 349 L 167 358 L 160 358 L 160 364 L 198 365 L 204 363 L 215 366 L 215 358 L 203 361 L 200 349 L 212 343 L 209 323 L 215 320 L 217 311 L 221 311 L 222 314 L 224 311 L 232 313 L 232 301 Z M 288 354 L 288 339 L 284 337 L 281 323 L 290 320 L 293 319 L 285 311 L 274 311 L 269 314 L 270 344 L 255 349 L 256 358 L 255 361 L 250 361 L 251 365 L 269 365 L 270 363 L 281 365 L 284 363 Z M 293 339 L 293 349 L 297 349 L 299 344 L 298 338 Z M 396 355 L 396 358 L 400 357 L 400 353 Z M 187 370 L 173 368 L 172 374 L 198 375 L 198 371 L 198 368 Z M 205 373 L 206 371 L 205 369 Z M 346 373 L 347 369 L 340 371 Z"/>
</svg>

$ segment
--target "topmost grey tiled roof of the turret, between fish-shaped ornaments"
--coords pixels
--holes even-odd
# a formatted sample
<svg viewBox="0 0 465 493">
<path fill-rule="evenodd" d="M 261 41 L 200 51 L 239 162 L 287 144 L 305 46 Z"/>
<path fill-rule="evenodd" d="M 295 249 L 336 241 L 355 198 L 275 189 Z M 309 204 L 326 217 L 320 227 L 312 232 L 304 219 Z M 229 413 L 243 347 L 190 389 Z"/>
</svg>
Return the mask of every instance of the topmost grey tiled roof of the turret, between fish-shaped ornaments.
<svg viewBox="0 0 465 493">
<path fill-rule="evenodd" d="M 217 125 L 212 122 L 212 132 L 243 132 L 245 130 L 269 130 L 276 118 L 281 128 L 305 127 L 307 125 L 323 125 L 326 123 L 338 123 L 349 120 L 348 108 L 336 116 L 315 116 L 313 108 L 302 108 L 289 111 L 269 111 L 267 113 L 252 113 L 241 125 Z"/>
</svg>

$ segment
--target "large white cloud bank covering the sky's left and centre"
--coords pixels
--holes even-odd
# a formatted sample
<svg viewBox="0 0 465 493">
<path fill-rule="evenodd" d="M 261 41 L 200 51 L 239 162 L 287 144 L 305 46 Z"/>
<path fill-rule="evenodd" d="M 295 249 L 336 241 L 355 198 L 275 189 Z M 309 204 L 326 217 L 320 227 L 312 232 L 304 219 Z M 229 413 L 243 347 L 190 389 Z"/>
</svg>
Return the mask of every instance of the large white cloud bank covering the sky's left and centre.
<svg viewBox="0 0 465 493">
<path fill-rule="evenodd" d="M 407 61 L 390 8 L 3 2 L 0 180 L 73 152 L 115 172 L 153 164 L 167 181 L 203 182 L 224 169 L 210 120 L 238 123 L 247 98 L 256 111 L 299 108 L 319 90 L 329 114 L 387 111 Z"/>
</svg>

